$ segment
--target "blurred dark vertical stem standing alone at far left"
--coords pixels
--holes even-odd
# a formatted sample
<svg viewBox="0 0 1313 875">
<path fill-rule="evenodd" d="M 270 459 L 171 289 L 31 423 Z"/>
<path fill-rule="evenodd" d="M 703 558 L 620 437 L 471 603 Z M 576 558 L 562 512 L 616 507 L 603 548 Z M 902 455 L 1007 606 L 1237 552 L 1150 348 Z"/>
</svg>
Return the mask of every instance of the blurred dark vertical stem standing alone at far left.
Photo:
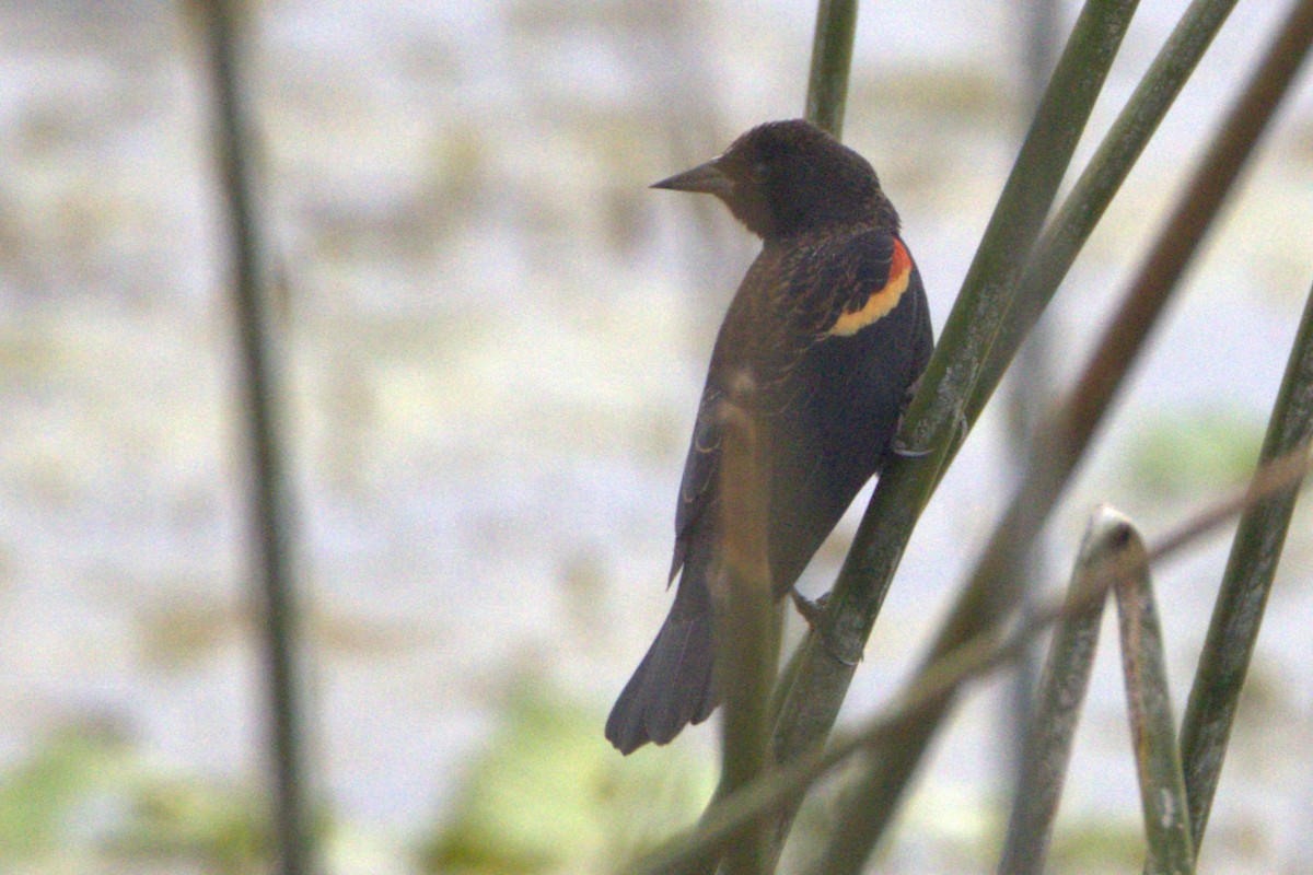
<svg viewBox="0 0 1313 875">
<path fill-rule="evenodd" d="M 249 453 L 251 573 L 264 609 L 263 657 L 268 681 L 269 745 L 274 770 L 278 871 L 312 871 L 303 799 L 297 628 L 293 598 L 293 506 L 280 443 L 277 349 L 267 320 L 264 264 L 251 177 L 249 122 L 238 81 L 238 4 L 200 4 L 214 89 L 214 136 L 225 219 L 232 245 L 232 306 L 239 344 L 239 391 Z"/>
</svg>

